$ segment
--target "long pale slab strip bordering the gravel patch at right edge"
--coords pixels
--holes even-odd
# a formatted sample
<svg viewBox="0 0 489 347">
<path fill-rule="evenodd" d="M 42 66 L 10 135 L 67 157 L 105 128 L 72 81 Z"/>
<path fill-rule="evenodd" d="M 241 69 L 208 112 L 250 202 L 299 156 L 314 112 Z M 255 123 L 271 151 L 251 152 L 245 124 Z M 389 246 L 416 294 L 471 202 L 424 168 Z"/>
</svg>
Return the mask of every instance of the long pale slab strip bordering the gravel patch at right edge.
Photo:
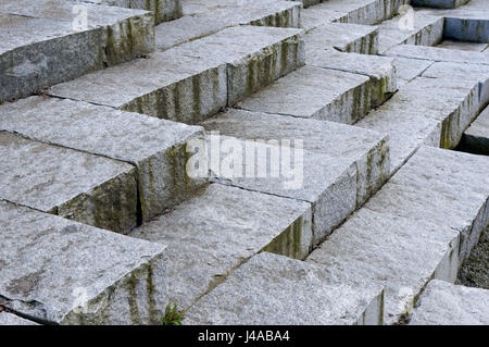
<svg viewBox="0 0 489 347">
<path fill-rule="evenodd" d="M 397 322 L 429 280 L 455 281 L 488 222 L 488 165 L 484 157 L 422 147 L 308 261 L 347 283 L 385 285 L 386 322 Z"/>
</svg>

